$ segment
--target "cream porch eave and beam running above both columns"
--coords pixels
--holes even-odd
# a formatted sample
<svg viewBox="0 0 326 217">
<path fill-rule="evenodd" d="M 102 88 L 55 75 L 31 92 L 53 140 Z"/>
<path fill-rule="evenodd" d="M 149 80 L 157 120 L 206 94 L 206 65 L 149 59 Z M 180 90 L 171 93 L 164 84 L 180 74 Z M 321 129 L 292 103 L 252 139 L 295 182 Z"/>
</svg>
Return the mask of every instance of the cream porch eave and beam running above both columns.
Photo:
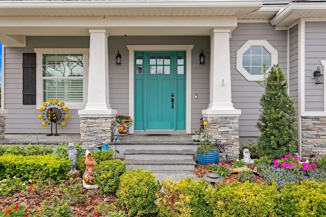
<svg viewBox="0 0 326 217">
<path fill-rule="evenodd" d="M 252 13 L 262 0 L 0 1 L 0 42 L 25 46 L 25 36 L 88 36 L 104 28 L 110 36 L 210 35 Z M 149 18 L 151 17 L 151 18 Z M 235 22 L 234 22 L 235 21 Z"/>
</svg>

